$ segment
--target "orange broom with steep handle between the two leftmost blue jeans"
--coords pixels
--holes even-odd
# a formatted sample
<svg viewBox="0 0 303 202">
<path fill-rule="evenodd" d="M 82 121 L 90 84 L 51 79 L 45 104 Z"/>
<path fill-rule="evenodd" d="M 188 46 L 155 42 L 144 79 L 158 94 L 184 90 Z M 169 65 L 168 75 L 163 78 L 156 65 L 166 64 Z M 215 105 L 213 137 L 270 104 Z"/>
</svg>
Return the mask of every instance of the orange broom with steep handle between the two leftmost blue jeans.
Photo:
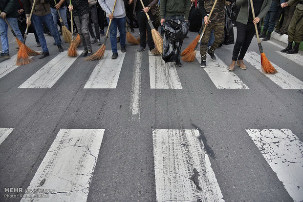
<svg viewBox="0 0 303 202">
<path fill-rule="evenodd" d="M 34 0 L 34 2 L 33 2 L 32 10 L 30 12 L 29 19 L 28 19 L 29 22 L 30 22 L 30 19 L 32 18 L 35 4 L 36 4 L 36 0 Z M 23 38 L 23 43 L 21 44 L 21 46 L 19 48 L 19 51 L 18 51 L 18 54 L 17 54 L 17 61 L 16 61 L 17 65 L 28 64 L 28 63 L 33 61 L 32 59 L 29 58 L 29 56 L 37 56 L 37 55 L 41 54 L 41 53 L 38 53 L 38 52 L 30 49 L 29 47 L 27 47 L 25 45 L 25 40 L 26 40 L 26 35 L 27 35 L 27 32 L 28 32 L 28 27 L 29 27 L 29 24 L 27 24 L 27 26 L 26 26 L 26 30 L 25 30 L 24 38 Z"/>
</svg>

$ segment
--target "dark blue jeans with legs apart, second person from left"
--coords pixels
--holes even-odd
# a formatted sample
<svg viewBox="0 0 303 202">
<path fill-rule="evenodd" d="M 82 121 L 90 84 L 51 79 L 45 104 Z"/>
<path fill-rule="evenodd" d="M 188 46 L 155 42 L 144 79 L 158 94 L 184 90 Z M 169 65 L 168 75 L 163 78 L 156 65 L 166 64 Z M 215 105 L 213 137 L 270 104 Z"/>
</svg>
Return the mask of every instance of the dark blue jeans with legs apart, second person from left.
<svg viewBox="0 0 303 202">
<path fill-rule="evenodd" d="M 33 25 L 36 29 L 43 52 L 48 53 L 48 48 L 47 48 L 46 40 L 45 40 L 44 33 L 43 33 L 42 22 L 44 22 L 44 24 L 49 29 L 50 33 L 53 35 L 55 43 L 57 45 L 61 45 L 60 37 L 58 34 L 58 29 L 56 31 L 56 27 L 55 27 L 54 21 L 53 21 L 53 16 L 51 15 L 51 13 L 47 14 L 45 16 L 36 16 L 33 14 L 31 21 L 33 22 Z"/>
</svg>

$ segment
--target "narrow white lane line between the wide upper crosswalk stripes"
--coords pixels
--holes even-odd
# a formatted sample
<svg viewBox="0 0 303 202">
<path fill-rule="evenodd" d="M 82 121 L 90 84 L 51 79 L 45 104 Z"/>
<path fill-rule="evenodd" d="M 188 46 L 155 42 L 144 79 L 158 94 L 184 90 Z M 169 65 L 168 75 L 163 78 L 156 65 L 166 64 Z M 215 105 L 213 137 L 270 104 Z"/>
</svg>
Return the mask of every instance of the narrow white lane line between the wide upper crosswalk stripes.
<svg viewBox="0 0 303 202">
<path fill-rule="evenodd" d="M 142 54 L 136 53 L 132 75 L 130 111 L 132 116 L 136 116 L 138 118 L 140 118 L 141 104 L 141 62 Z"/>
</svg>

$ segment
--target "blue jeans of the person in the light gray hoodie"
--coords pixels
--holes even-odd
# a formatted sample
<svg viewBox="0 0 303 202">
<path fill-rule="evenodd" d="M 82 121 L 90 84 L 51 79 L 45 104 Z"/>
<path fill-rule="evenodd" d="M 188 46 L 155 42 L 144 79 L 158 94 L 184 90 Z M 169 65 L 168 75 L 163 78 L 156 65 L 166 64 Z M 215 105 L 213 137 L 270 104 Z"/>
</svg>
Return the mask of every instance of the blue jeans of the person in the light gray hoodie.
<svg viewBox="0 0 303 202">
<path fill-rule="evenodd" d="M 109 18 L 107 18 L 109 24 Z M 113 53 L 118 53 L 117 50 L 117 27 L 120 32 L 120 45 L 121 47 L 125 46 L 126 40 L 126 17 L 123 18 L 114 18 L 111 20 L 111 24 L 109 27 L 110 32 L 110 44 L 111 44 L 111 51 Z"/>
</svg>

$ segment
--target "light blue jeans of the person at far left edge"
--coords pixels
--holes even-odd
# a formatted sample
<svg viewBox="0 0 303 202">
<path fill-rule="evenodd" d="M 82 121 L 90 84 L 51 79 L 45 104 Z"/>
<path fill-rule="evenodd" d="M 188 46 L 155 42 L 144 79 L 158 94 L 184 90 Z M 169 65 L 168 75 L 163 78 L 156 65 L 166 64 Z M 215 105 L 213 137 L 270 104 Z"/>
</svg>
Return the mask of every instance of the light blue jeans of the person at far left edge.
<svg viewBox="0 0 303 202">
<path fill-rule="evenodd" d="M 6 18 L 6 20 L 8 21 L 9 25 L 11 25 L 15 34 L 17 35 L 17 38 L 23 42 L 22 34 L 21 34 L 21 32 L 19 30 L 19 27 L 18 27 L 17 18 Z M 8 28 L 8 25 L 5 22 L 5 20 L 0 18 L 0 36 L 1 36 L 1 43 L 2 43 L 2 53 L 9 54 L 7 28 Z"/>
</svg>

